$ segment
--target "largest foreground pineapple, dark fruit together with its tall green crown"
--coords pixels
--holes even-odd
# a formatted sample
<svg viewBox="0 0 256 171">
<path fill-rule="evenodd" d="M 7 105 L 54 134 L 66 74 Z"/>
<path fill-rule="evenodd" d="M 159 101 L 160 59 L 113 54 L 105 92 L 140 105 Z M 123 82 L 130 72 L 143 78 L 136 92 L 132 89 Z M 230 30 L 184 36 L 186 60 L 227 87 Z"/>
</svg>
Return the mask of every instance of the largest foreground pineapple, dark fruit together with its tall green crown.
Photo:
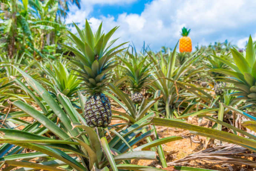
<svg viewBox="0 0 256 171">
<path fill-rule="evenodd" d="M 75 54 L 71 60 L 78 69 L 74 70 L 79 73 L 80 79 L 84 81 L 86 93 L 89 94 L 85 103 L 84 117 L 90 127 L 105 127 L 111 122 L 112 112 L 109 99 L 102 92 L 111 79 L 109 71 L 118 65 L 112 60 L 114 55 L 125 48 L 116 49 L 125 43 L 110 49 L 117 39 L 111 42 L 109 39 L 118 27 L 114 27 L 106 34 L 102 33 L 102 23 L 95 34 L 92 33 L 87 20 L 84 30 L 80 30 L 76 24 L 75 27 L 80 38 L 69 32 L 69 38 L 74 45 L 65 47 Z"/>
</svg>

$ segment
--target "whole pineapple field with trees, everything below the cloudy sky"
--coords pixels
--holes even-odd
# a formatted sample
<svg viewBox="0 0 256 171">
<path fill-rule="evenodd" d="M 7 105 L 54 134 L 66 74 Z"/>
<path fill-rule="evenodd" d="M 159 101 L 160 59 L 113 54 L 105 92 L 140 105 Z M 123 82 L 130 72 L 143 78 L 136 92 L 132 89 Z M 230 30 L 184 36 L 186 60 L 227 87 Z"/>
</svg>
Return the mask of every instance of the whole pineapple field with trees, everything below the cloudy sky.
<svg viewBox="0 0 256 171">
<path fill-rule="evenodd" d="M 252 36 L 155 51 L 63 2 L 0 2 L 1 171 L 256 170 Z"/>
</svg>

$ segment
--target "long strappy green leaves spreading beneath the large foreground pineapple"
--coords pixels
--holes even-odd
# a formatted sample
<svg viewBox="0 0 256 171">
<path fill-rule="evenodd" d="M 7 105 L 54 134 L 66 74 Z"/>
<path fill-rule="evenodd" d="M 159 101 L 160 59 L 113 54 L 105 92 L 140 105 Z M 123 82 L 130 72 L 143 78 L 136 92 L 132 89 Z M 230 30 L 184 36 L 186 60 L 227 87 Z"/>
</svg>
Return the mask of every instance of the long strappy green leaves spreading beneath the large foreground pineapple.
<svg viewBox="0 0 256 171">
<path fill-rule="evenodd" d="M 36 109 L 34 106 L 22 100 L 12 99 L 13 105 L 26 114 L 24 116 L 31 116 L 36 122 L 33 121 L 26 124 L 24 128 L 20 130 L 15 128 L 17 125 L 14 123 L 17 122 L 13 122 L 12 118 L 6 118 L 4 127 L 6 125 L 7 128 L 0 128 L 2 143 L 0 151 L 4 151 L 3 156 L 8 154 L 7 157 L 14 158 L 8 161 L 2 161 L 1 167 L 4 164 L 8 164 L 7 170 L 16 170 L 16 167 L 22 167 L 23 170 L 41 169 L 50 171 L 160 170 L 153 167 L 130 164 L 132 159 L 157 160 L 155 151 L 142 150 L 142 148 L 152 148 L 152 142 L 144 144 L 143 146 L 137 145 L 141 140 L 148 139 L 148 136 L 152 135 L 152 132 L 154 132 L 153 129 L 147 131 L 147 126 L 150 125 L 150 119 L 154 117 L 154 113 L 141 118 L 140 122 L 136 122 L 136 124 L 132 125 L 132 129 L 128 127 L 125 128 L 122 125 L 115 125 L 104 129 L 101 127 L 96 129 L 90 128 L 86 125 L 85 119 L 76 111 L 76 108 L 71 105 L 69 98 L 63 93 L 60 93 L 56 87 L 56 91 L 58 92 L 57 100 L 59 103 L 56 99 L 53 99 L 50 93 L 39 82 L 16 66 L 14 66 L 14 68 L 16 68 L 24 78 L 27 78 L 27 84 L 29 86 L 26 86 L 15 77 L 12 77 L 12 79 L 14 79 L 17 85 L 22 86 L 26 92 L 29 92 L 28 94 L 35 99 L 35 103 L 40 106 L 40 109 Z M 36 96 L 32 90 L 39 96 Z M 81 92 L 78 92 L 78 96 L 80 105 L 83 106 L 85 104 L 85 97 Z M 38 100 L 40 98 L 43 102 Z M 149 108 L 150 106 L 146 111 Z M 144 114 L 146 111 L 142 110 L 141 113 Z M 14 113 L 10 112 L 9 115 L 13 116 L 15 113 L 16 111 L 14 111 Z M 56 114 L 56 116 L 53 116 L 53 113 Z M 7 115 L 8 114 L 6 114 L 6 116 Z M 3 117 L 5 115 L 1 114 L 1 116 Z M 56 124 L 57 116 L 60 123 L 58 125 Z M 82 123 L 82 125 L 80 123 Z M 143 130 L 145 130 L 145 132 Z M 46 132 L 47 134 L 45 134 Z M 110 135 L 109 132 L 113 134 Z M 49 135 L 49 133 L 51 135 Z M 182 138 L 172 137 L 171 139 L 175 141 Z M 10 142 L 9 140 L 13 141 Z M 23 143 L 24 141 L 25 143 Z M 130 143 L 128 144 L 128 142 Z M 157 142 L 157 146 L 159 147 L 159 145 L 165 143 L 166 140 L 162 141 L 158 139 Z M 134 148 L 135 145 L 136 148 Z M 33 151 L 27 152 L 23 150 L 24 148 Z M 17 151 L 20 151 L 19 158 L 15 158 Z M 159 156 L 164 154 L 162 148 L 158 151 L 160 153 Z M 43 155 L 43 158 L 37 160 L 38 153 L 39 155 Z M 10 156 L 12 154 L 14 156 Z M 70 156 L 70 154 L 72 154 L 72 156 Z M 25 155 L 29 155 L 29 160 L 26 160 L 27 157 Z M 162 155 L 162 158 L 163 160 L 161 160 L 161 162 L 164 162 L 166 166 L 164 155 Z M 120 159 L 126 162 L 122 164 Z M 2 157 L 2 160 L 4 160 L 4 157 Z M 18 165 L 16 160 L 19 160 Z M 31 162 L 34 160 L 37 160 L 37 163 Z"/>
</svg>

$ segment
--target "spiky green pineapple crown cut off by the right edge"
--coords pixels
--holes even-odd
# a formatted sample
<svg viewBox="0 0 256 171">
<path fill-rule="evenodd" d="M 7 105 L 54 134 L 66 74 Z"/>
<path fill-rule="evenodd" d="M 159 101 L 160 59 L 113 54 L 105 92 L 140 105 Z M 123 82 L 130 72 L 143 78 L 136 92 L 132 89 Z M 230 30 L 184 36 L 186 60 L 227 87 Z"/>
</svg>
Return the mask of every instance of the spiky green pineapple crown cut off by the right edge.
<svg viewBox="0 0 256 171">
<path fill-rule="evenodd" d="M 234 100 L 246 100 L 245 105 L 255 106 L 256 103 L 256 58 L 255 47 L 253 46 L 252 37 L 249 37 L 246 53 L 242 54 L 237 49 L 230 49 L 233 60 L 230 62 L 222 57 L 214 56 L 215 59 L 221 60 L 230 69 L 212 69 L 211 71 L 225 75 L 220 81 L 232 83 L 234 87 L 227 87 L 237 92 L 232 93 L 237 96 Z"/>
</svg>

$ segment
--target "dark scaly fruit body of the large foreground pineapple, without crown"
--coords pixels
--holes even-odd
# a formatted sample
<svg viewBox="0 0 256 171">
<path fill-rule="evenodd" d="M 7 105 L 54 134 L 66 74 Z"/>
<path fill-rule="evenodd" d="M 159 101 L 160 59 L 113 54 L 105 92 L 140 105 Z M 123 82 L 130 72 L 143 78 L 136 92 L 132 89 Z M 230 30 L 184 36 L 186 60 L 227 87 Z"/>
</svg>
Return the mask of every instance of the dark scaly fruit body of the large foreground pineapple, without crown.
<svg viewBox="0 0 256 171">
<path fill-rule="evenodd" d="M 85 104 L 85 121 L 90 127 L 106 127 L 112 118 L 111 103 L 104 94 L 90 96 Z"/>
</svg>

